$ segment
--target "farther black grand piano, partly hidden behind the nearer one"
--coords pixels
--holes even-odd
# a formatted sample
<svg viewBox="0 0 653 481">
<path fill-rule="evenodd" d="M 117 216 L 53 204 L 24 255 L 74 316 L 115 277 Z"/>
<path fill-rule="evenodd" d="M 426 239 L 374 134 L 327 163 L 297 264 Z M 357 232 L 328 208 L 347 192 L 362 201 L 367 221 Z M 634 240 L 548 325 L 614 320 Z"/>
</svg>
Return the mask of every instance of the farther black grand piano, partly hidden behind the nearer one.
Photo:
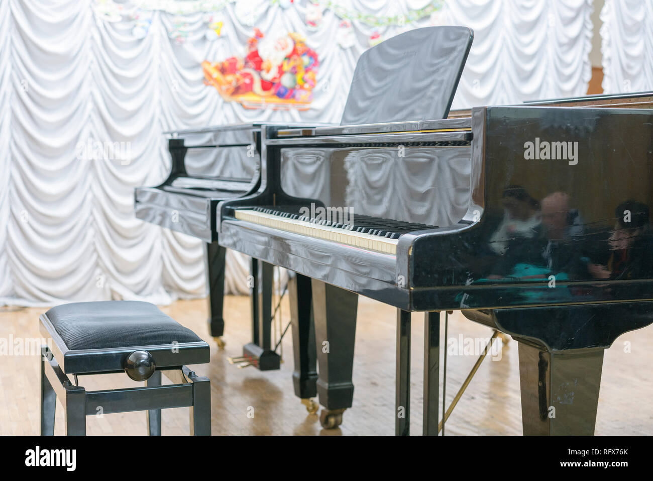
<svg viewBox="0 0 653 481">
<path fill-rule="evenodd" d="M 209 329 L 223 347 L 225 248 L 217 242 L 215 207 L 238 199 L 261 185 L 261 128 L 300 128 L 302 124 L 232 124 L 166 132 L 171 167 L 156 187 L 135 190 L 137 218 L 182 232 L 205 242 Z M 253 340 L 244 347 L 243 365 L 262 371 L 279 369 L 280 357 L 271 348 L 272 266 L 251 261 Z"/>
</svg>

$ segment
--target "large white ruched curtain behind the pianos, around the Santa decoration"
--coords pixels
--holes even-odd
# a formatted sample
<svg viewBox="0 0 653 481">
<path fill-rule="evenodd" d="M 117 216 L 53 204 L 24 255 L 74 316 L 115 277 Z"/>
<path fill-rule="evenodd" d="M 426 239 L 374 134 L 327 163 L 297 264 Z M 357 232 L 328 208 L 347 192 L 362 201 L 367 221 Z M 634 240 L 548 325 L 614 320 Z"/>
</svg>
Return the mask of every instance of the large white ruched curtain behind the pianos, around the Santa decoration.
<svg viewBox="0 0 653 481">
<path fill-rule="evenodd" d="M 454 108 L 581 95 L 590 78 L 590 0 L 178 8 L 0 0 L 0 305 L 204 295 L 201 243 L 133 215 L 133 188 L 167 175 L 161 133 L 253 120 L 338 123 L 358 56 L 407 29 L 474 30 Z M 296 32 L 317 54 L 308 110 L 246 109 L 203 83 L 202 61 L 245 56 L 255 28 L 262 39 Z M 246 292 L 246 277 L 246 259 L 229 252 L 226 290 Z"/>
</svg>

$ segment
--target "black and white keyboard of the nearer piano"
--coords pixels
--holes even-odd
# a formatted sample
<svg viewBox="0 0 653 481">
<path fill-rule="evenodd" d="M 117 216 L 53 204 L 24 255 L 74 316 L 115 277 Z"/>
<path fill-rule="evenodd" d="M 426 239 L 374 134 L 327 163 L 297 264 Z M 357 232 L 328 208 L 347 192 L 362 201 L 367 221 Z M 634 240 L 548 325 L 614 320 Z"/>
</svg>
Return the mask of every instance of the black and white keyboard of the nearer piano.
<svg viewBox="0 0 653 481">
<path fill-rule="evenodd" d="M 311 220 L 300 215 L 298 210 L 295 206 L 240 208 L 235 210 L 234 217 L 273 229 L 392 255 L 396 254 L 400 235 L 436 227 L 360 215 L 354 215 L 351 224 L 338 224 L 328 220 Z"/>
</svg>

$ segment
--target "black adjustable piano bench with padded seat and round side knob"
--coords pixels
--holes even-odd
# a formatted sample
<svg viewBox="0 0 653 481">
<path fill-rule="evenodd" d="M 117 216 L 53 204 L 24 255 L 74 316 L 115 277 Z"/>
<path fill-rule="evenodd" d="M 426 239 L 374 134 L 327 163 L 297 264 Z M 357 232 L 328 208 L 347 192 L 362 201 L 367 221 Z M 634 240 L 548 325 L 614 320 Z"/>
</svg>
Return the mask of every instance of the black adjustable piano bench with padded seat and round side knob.
<svg viewBox="0 0 653 481">
<path fill-rule="evenodd" d="M 40 433 L 54 435 L 57 397 L 66 435 L 86 435 L 86 416 L 148 412 L 150 435 L 161 435 L 161 409 L 190 406 L 191 435 L 211 434 L 211 388 L 187 364 L 208 363 L 209 346 L 155 305 L 99 301 L 53 307 L 41 314 Z M 124 371 L 146 386 L 86 391 L 82 374 Z M 173 384 L 162 385 L 161 373 Z M 72 384 L 67 374 L 74 376 Z"/>
</svg>

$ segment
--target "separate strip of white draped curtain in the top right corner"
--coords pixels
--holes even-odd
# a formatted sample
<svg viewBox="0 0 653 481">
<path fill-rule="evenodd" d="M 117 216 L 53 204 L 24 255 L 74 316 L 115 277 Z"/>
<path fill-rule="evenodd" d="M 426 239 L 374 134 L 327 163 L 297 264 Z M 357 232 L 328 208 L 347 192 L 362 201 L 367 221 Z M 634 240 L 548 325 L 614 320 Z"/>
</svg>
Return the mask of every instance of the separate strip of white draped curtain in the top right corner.
<svg viewBox="0 0 653 481">
<path fill-rule="evenodd" d="M 653 90 L 653 0 L 605 0 L 601 22 L 603 91 Z"/>
</svg>

